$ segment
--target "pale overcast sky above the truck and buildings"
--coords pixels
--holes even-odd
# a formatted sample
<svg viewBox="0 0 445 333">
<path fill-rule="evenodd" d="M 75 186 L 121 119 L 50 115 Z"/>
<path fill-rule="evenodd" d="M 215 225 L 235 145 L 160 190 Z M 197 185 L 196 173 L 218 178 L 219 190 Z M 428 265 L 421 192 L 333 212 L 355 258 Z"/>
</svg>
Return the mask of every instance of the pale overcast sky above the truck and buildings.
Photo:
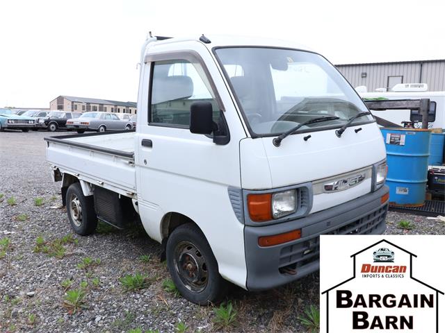
<svg viewBox="0 0 445 333">
<path fill-rule="evenodd" d="M 280 37 L 335 64 L 445 58 L 445 1 L 1 0 L 0 107 L 58 95 L 136 101 L 154 35 Z"/>
</svg>

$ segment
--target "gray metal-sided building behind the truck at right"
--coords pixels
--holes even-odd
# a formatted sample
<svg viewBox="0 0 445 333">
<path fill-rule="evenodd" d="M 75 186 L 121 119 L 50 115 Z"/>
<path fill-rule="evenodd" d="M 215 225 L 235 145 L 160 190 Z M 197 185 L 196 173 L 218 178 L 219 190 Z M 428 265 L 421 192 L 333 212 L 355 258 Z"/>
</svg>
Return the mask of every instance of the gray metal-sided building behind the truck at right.
<svg viewBox="0 0 445 333">
<path fill-rule="evenodd" d="M 427 83 L 430 92 L 445 91 L 445 60 L 375 62 L 336 65 L 353 87 L 389 91 L 396 83 Z"/>
</svg>

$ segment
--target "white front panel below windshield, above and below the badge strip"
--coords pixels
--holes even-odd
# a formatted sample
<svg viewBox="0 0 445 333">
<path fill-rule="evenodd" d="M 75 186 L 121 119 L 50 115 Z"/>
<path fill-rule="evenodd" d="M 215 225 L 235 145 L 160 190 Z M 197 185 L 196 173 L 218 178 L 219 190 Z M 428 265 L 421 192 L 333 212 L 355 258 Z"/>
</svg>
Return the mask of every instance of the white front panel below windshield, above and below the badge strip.
<svg viewBox="0 0 445 333">
<path fill-rule="evenodd" d="M 355 133 L 356 128 L 362 128 Z M 307 141 L 303 138 L 311 135 Z M 280 147 L 273 137 L 240 142 L 243 189 L 275 189 L 334 178 L 385 160 L 382 135 L 375 123 L 351 126 L 341 137 L 335 130 L 289 135 Z M 352 200 L 371 191 L 371 178 L 344 191 L 314 196 L 314 211 Z"/>
</svg>

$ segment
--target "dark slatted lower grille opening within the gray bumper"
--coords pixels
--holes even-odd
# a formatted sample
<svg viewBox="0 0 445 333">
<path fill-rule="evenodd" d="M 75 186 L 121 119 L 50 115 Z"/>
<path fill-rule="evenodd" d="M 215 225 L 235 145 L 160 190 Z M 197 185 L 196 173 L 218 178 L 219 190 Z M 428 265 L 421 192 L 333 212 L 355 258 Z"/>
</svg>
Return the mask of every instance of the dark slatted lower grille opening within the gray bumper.
<svg viewBox="0 0 445 333">
<path fill-rule="evenodd" d="M 342 225 L 333 230 L 327 230 L 325 234 L 373 234 L 375 230 L 385 223 L 387 205 L 375 210 L 369 215 L 357 219 L 357 221 Z M 286 272 L 289 268 L 296 269 L 314 262 L 320 258 L 320 234 L 305 239 L 296 244 L 285 246 L 280 252 L 280 272 Z M 286 268 L 286 269 L 284 269 Z"/>
</svg>

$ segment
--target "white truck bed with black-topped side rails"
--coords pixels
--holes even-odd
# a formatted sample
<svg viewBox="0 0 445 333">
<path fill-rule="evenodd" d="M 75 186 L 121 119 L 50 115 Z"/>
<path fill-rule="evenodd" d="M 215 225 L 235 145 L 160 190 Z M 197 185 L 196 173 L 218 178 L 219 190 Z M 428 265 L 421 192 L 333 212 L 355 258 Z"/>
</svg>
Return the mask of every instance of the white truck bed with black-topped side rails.
<svg viewBox="0 0 445 333">
<path fill-rule="evenodd" d="M 45 137 L 47 160 L 61 173 L 136 198 L 134 131 Z"/>
</svg>

